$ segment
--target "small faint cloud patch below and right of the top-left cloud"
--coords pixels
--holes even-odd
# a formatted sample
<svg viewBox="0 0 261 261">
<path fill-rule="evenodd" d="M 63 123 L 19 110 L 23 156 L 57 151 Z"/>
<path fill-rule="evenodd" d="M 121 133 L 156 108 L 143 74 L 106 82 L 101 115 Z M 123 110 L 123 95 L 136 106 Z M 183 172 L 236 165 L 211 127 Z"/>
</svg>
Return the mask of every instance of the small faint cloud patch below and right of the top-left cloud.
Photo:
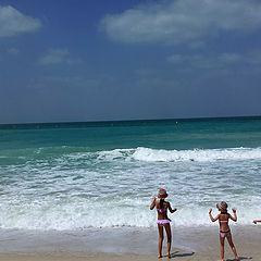
<svg viewBox="0 0 261 261">
<path fill-rule="evenodd" d="M 50 48 L 39 59 L 38 63 L 40 65 L 59 64 L 59 63 L 75 64 L 75 63 L 80 63 L 80 60 L 72 59 L 66 48 L 57 48 L 57 49 Z"/>
</svg>

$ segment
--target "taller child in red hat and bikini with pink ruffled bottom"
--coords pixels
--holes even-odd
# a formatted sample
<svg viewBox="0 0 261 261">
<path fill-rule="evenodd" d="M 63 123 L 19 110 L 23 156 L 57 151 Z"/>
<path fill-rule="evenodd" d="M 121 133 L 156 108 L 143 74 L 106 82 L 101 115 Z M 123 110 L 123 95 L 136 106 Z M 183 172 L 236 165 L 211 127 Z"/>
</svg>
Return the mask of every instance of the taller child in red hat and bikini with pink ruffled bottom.
<svg viewBox="0 0 261 261">
<path fill-rule="evenodd" d="M 167 197 L 166 190 L 161 188 L 158 194 L 158 198 L 160 200 L 156 200 L 156 197 L 152 198 L 152 202 L 150 204 L 150 210 L 157 208 L 158 212 L 158 229 L 159 229 L 159 256 L 158 258 L 162 258 L 162 243 L 163 243 L 163 227 L 165 227 L 166 236 L 167 236 L 167 257 L 171 258 L 171 241 L 172 241 L 172 233 L 171 233 L 171 220 L 167 217 L 167 210 L 171 213 L 175 212 L 177 209 L 172 209 L 170 202 L 164 199 Z"/>
</svg>

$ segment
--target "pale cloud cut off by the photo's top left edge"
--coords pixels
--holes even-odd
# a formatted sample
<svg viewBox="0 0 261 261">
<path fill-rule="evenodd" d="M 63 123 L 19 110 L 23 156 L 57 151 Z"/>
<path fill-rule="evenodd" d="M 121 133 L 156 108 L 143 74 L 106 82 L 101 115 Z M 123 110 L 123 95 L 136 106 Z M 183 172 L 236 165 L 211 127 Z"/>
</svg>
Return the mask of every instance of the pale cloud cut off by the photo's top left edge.
<svg viewBox="0 0 261 261">
<path fill-rule="evenodd" d="M 22 14 L 12 7 L 0 7 L 0 37 L 10 37 L 38 30 L 41 22 L 38 18 Z"/>
</svg>

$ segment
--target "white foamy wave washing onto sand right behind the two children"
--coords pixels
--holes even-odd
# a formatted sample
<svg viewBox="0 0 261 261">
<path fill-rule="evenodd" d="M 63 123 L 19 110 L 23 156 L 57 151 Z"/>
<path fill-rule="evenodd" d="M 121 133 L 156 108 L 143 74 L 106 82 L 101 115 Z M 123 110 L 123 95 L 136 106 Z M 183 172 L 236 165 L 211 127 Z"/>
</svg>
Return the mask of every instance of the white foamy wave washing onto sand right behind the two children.
<svg viewBox="0 0 261 261">
<path fill-rule="evenodd" d="M 95 208 L 84 208 L 84 206 L 52 206 L 32 207 L 30 209 L 9 209 L 0 216 L 1 228 L 36 229 L 36 231 L 78 231 L 88 228 L 105 227 L 140 227 L 149 228 L 157 226 L 157 213 L 149 210 L 148 206 L 129 208 L 113 208 L 100 212 Z M 87 211 L 88 210 L 88 211 Z M 169 216 L 172 224 L 181 227 L 212 226 L 210 222 L 208 207 L 195 206 L 194 208 L 178 209 Z M 231 211 L 232 212 L 232 211 Z M 213 215 L 217 214 L 213 210 Z M 261 209 L 254 207 L 239 208 L 238 222 L 231 224 L 250 225 L 253 219 L 260 219 Z M 216 224 L 215 224 L 216 225 Z"/>
</svg>

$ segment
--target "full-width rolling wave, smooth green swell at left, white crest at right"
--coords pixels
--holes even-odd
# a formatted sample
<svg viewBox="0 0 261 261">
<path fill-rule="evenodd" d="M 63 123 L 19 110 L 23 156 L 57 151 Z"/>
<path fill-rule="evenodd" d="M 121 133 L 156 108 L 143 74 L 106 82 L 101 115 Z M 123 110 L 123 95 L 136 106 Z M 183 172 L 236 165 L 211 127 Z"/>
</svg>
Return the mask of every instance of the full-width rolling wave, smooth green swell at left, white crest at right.
<svg viewBox="0 0 261 261">
<path fill-rule="evenodd" d="M 21 157 L 23 156 L 23 157 Z M 166 150 L 145 147 L 129 149 L 113 149 L 90 151 L 85 147 L 52 147 L 26 150 L 5 151 L 0 158 L 15 158 L 20 160 L 92 160 L 116 161 L 136 160 L 146 162 L 172 162 L 172 161 L 219 161 L 219 160 L 260 160 L 261 148 L 221 148 L 221 149 L 189 149 Z"/>
</svg>

